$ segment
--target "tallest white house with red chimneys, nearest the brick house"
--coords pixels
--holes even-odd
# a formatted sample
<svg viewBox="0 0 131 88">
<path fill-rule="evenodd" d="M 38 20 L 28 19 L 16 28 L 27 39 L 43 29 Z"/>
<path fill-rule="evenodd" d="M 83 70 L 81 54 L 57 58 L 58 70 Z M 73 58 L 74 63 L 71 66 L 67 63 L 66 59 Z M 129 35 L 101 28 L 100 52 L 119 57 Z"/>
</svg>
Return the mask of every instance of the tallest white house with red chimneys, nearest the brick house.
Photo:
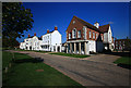
<svg viewBox="0 0 131 88">
<path fill-rule="evenodd" d="M 57 26 L 55 27 L 55 30 L 49 32 L 47 30 L 47 34 L 41 36 L 41 43 L 40 50 L 44 51 L 55 51 L 55 52 L 61 52 L 61 34 L 58 32 Z"/>
</svg>

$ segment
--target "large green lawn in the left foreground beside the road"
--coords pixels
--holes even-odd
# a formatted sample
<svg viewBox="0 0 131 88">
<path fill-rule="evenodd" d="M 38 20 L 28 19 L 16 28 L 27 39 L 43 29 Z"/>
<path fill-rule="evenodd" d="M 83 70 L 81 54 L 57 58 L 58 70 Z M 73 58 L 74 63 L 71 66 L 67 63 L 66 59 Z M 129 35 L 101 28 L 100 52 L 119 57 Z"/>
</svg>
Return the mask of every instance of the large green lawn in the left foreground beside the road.
<svg viewBox="0 0 131 88">
<path fill-rule="evenodd" d="M 12 54 L 3 51 L 3 65 L 11 61 Z M 49 65 L 21 53 L 14 53 L 15 62 L 8 73 L 2 72 L 3 86 L 81 86 Z"/>
</svg>

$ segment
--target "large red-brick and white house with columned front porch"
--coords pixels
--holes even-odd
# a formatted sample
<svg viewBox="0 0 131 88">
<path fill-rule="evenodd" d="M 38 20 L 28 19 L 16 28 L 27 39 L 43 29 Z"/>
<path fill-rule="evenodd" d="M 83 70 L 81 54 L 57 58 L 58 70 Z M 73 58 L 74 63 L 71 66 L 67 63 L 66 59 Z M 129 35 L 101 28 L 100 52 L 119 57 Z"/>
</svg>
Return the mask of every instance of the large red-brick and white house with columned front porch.
<svg viewBox="0 0 131 88">
<path fill-rule="evenodd" d="M 114 50 L 110 25 L 94 25 L 73 16 L 67 30 L 67 53 L 90 54 L 104 49 Z"/>
</svg>

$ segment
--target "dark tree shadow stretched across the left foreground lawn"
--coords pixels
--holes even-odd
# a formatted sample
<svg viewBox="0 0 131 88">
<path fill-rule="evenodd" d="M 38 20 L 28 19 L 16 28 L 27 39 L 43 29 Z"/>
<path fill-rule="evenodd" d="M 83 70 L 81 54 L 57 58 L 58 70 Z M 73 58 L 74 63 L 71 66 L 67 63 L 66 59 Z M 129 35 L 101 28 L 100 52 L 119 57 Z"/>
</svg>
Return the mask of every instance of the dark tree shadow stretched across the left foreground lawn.
<svg viewBox="0 0 131 88">
<path fill-rule="evenodd" d="M 22 60 L 15 60 L 14 63 L 40 63 L 44 62 L 44 59 L 40 58 L 31 58 L 31 59 L 22 59 Z"/>
</svg>

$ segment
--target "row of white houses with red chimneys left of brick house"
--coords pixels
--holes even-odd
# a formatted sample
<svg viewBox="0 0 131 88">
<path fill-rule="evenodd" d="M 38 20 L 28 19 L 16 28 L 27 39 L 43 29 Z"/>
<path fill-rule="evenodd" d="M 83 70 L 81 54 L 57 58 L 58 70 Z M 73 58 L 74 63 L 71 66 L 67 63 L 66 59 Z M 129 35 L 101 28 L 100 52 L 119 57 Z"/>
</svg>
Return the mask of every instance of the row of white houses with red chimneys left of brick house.
<svg viewBox="0 0 131 88">
<path fill-rule="evenodd" d="M 37 37 L 36 34 L 32 37 L 28 35 L 24 42 L 20 43 L 20 49 L 61 52 L 61 37 L 58 27 L 55 27 L 55 30 L 48 29 L 41 37 Z"/>
</svg>

